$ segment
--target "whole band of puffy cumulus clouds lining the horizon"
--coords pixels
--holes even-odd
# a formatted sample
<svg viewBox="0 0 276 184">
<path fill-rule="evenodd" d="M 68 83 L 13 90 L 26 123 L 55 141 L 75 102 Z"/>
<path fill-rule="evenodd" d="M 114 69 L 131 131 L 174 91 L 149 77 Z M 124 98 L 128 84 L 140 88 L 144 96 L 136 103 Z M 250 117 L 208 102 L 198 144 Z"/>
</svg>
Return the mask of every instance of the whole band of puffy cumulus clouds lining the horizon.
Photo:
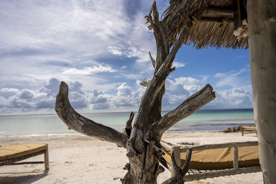
<svg viewBox="0 0 276 184">
<path fill-rule="evenodd" d="M 59 79 L 52 78 L 37 90 L 2 88 L 0 111 L 1 113 L 54 112 L 59 83 Z M 69 82 L 69 100 L 72 107 L 80 112 L 138 110 L 141 96 L 146 90 L 138 84 L 139 81 L 130 87 L 126 82 L 121 83 L 110 93 L 97 89 L 83 90 L 82 83 Z M 200 79 L 193 77 L 167 79 L 162 109 L 176 108 L 204 85 Z M 252 98 L 250 90 L 247 89 L 249 87 L 215 90 L 216 99 L 208 104 L 208 108 L 248 108 L 252 106 Z"/>
</svg>

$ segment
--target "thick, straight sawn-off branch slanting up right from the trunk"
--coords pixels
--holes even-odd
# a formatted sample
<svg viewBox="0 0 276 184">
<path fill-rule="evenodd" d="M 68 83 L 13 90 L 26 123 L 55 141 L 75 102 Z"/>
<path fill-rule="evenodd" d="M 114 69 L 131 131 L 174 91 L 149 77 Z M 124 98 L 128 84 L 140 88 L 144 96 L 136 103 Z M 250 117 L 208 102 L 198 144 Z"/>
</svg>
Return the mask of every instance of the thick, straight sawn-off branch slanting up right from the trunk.
<svg viewBox="0 0 276 184">
<path fill-rule="evenodd" d="M 175 125 L 181 119 L 190 116 L 193 112 L 199 110 L 203 105 L 215 99 L 215 92 L 210 84 L 207 84 L 199 92 L 190 96 L 181 103 L 175 110 L 165 114 L 159 121 L 152 124 L 152 128 L 158 129 L 161 134 Z"/>
</svg>

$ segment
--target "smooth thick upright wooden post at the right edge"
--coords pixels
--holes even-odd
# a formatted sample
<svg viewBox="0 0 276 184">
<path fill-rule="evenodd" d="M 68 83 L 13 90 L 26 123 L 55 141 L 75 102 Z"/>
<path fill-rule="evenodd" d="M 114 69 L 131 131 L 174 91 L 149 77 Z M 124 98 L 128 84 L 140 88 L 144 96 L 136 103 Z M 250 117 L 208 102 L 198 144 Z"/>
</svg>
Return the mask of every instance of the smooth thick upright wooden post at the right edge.
<svg viewBox="0 0 276 184">
<path fill-rule="evenodd" d="M 276 1 L 248 0 L 247 9 L 259 161 L 265 183 L 276 183 Z"/>
</svg>

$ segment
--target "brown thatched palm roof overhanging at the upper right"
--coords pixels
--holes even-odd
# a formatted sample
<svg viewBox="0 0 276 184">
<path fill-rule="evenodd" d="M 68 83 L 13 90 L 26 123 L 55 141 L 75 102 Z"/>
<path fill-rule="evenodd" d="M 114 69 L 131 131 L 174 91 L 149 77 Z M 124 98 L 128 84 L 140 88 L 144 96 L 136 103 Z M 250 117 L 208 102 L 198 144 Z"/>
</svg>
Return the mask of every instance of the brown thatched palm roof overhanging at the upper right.
<svg viewBox="0 0 276 184">
<path fill-rule="evenodd" d="M 170 0 L 163 14 L 172 43 L 186 27 L 184 44 L 195 48 L 248 48 L 248 37 L 234 32 L 233 0 Z"/>
</svg>

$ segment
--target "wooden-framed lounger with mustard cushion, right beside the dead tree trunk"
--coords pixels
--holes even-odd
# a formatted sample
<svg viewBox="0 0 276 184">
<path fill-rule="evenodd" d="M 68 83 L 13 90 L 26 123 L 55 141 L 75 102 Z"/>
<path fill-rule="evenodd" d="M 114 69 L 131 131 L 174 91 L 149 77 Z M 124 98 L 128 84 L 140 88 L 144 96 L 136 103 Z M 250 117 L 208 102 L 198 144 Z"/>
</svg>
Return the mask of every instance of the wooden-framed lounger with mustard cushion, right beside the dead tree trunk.
<svg viewBox="0 0 276 184">
<path fill-rule="evenodd" d="M 165 141 L 161 141 L 161 145 L 165 152 L 164 159 L 170 165 L 172 150 L 177 165 L 184 165 L 189 147 L 179 147 Z M 174 170 L 171 171 L 173 176 Z M 257 141 L 199 145 L 193 146 L 189 171 L 184 181 L 260 171 Z"/>
</svg>

